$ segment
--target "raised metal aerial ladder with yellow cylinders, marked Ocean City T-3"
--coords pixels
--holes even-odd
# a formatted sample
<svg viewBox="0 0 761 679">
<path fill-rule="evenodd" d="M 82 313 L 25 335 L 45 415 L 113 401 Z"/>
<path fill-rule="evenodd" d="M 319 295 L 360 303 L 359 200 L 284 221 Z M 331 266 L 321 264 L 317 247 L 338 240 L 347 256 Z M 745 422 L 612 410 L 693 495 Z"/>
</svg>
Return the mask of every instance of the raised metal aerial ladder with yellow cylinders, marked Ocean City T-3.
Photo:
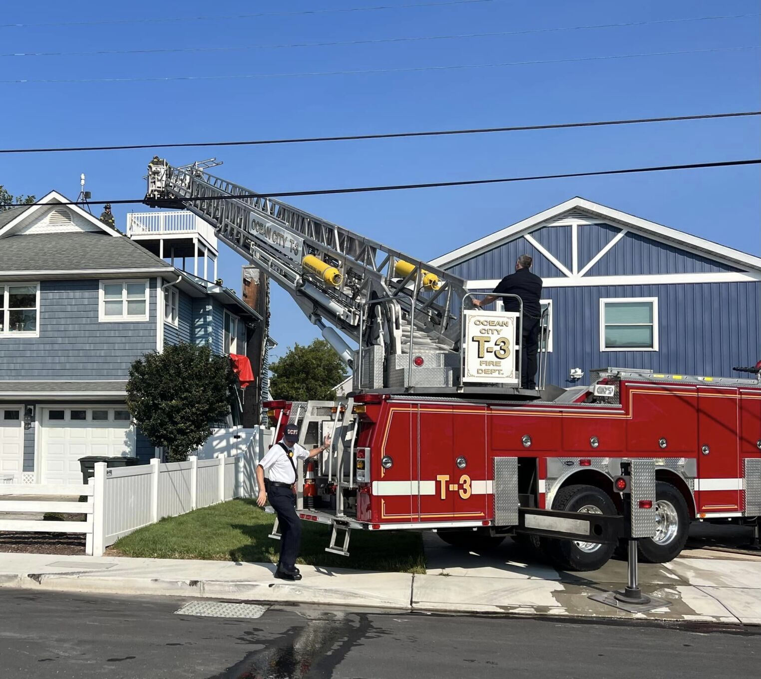
<svg viewBox="0 0 761 679">
<path fill-rule="evenodd" d="M 463 279 L 215 177 L 207 172 L 215 164 L 174 167 L 154 158 L 145 203 L 199 215 L 224 244 L 285 288 L 353 368 L 355 390 L 461 386 Z"/>
</svg>

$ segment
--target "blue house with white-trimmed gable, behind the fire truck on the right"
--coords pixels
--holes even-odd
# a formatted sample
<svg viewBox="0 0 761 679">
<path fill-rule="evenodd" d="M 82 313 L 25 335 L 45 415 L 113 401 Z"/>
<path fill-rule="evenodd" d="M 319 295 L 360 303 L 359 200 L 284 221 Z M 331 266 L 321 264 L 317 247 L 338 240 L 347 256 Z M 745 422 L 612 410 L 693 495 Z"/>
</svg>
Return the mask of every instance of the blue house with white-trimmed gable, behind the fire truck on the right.
<svg viewBox="0 0 761 679">
<path fill-rule="evenodd" d="M 743 377 L 761 359 L 761 258 L 586 199 L 431 263 L 489 292 L 523 253 L 543 278 L 550 384 L 605 366 Z"/>
</svg>

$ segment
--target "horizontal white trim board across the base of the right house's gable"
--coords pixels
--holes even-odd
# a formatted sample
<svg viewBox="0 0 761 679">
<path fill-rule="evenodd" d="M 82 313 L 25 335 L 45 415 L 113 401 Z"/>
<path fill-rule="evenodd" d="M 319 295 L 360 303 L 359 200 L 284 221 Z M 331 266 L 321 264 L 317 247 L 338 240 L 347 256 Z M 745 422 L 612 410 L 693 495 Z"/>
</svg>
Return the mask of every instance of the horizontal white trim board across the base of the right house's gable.
<svg viewBox="0 0 761 679">
<path fill-rule="evenodd" d="M 466 281 L 468 290 L 493 290 L 501 279 Z M 761 272 L 748 273 L 651 273 L 638 276 L 569 276 L 542 279 L 543 288 L 576 288 L 591 285 L 664 285 L 668 283 L 749 283 L 761 281 Z"/>
</svg>

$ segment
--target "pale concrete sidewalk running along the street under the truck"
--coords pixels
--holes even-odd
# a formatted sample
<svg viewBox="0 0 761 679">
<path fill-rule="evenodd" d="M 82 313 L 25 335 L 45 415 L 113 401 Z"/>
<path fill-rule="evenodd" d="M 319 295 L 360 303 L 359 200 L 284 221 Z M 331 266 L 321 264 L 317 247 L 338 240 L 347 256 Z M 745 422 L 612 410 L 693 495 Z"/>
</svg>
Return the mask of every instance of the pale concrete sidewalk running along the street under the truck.
<svg viewBox="0 0 761 679">
<path fill-rule="evenodd" d="M 479 573 L 409 575 L 301 566 L 298 583 L 260 563 L 0 554 L 0 587 L 348 605 L 365 608 L 761 624 L 761 561 L 677 559 L 643 569 L 642 589 L 669 608 L 627 614 L 588 599 L 619 588 L 626 564 L 571 574 L 503 563 Z M 620 570 L 620 574 L 619 571 Z"/>
</svg>

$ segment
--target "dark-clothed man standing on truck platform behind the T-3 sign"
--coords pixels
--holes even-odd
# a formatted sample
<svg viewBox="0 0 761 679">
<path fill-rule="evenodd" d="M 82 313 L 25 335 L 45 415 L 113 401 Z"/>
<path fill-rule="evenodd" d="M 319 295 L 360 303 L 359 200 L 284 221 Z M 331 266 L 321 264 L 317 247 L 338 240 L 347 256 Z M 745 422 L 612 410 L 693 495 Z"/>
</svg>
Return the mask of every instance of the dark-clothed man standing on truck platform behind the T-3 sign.
<svg viewBox="0 0 761 679">
<path fill-rule="evenodd" d="M 521 388 L 537 388 L 537 351 L 539 350 L 539 331 L 542 317 L 542 279 L 530 272 L 533 259 L 521 255 L 515 263 L 515 273 L 501 279 L 494 288 L 495 295 L 486 295 L 483 299 L 474 299 L 476 307 L 486 307 L 495 299 L 502 299 L 505 311 L 519 311 L 515 298 L 499 298 L 496 294 L 517 295 L 523 301 L 523 327 L 521 328 Z"/>
</svg>

